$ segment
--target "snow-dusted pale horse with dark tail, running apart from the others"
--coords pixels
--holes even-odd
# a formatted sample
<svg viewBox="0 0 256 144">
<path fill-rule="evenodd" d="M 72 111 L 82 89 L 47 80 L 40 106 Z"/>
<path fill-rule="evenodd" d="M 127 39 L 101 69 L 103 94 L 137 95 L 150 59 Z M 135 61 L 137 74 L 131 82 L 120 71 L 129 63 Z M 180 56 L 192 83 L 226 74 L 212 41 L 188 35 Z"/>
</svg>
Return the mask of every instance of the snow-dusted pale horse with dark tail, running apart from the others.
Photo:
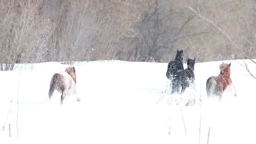
<svg viewBox="0 0 256 144">
<path fill-rule="evenodd" d="M 69 66 L 65 71 L 53 74 L 50 82 L 49 99 L 51 100 L 53 92 L 57 90 L 61 93 L 60 104 L 63 104 L 63 100 L 67 95 L 75 94 L 76 92 L 76 70 L 75 67 Z M 80 99 L 77 96 L 77 102 Z"/>
</svg>

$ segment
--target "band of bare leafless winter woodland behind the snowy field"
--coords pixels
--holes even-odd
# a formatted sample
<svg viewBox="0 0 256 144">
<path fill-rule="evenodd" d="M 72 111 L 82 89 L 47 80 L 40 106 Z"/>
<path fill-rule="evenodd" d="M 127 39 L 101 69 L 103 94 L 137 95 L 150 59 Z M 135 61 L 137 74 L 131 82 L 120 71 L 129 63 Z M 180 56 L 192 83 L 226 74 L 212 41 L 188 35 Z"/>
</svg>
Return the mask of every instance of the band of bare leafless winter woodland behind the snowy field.
<svg viewBox="0 0 256 144">
<path fill-rule="evenodd" d="M 256 56 L 256 1 L 1 0 L 1 70 L 15 63 L 197 62 Z"/>
</svg>

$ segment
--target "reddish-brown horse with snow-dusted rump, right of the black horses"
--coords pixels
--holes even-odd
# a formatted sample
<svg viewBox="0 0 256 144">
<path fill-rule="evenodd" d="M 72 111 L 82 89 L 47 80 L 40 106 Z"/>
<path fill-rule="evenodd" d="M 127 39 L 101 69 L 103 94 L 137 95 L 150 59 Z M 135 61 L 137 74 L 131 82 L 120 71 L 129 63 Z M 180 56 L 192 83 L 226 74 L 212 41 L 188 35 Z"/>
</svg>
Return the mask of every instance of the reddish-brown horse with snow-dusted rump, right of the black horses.
<svg viewBox="0 0 256 144">
<path fill-rule="evenodd" d="M 220 74 L 218 76 L 211 76 L 206 81 L 207 96 L 217 95 L 222 98 L 222 93 L 227 89 L 227 86 L 232 83 L 230 78 L 231 63 L 222 63 L 220 65 Z"/>
</svg>

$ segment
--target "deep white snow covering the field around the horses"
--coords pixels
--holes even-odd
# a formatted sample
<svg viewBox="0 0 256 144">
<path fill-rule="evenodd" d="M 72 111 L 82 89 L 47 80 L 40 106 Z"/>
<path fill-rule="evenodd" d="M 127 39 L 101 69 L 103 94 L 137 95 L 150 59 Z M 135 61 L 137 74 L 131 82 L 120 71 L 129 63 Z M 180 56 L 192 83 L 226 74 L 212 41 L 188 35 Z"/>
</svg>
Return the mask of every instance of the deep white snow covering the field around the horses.
<svg viewBox="0 0 256 144">
<path fill-rule="evenodd" d="M 222 62 L 231 62 L 234 86 L 220 102 L 206 98 L 205 84 Z M 256 64 L 246 63 L 256 75 Z M 81 102 L 68 97 L 60 106 L 60 93 L 49 101 L 48 91 L 52 75 L 66 66 L 23 64 L 0 72 L 1 143 L 256 143 L 256 79 L 242 60 L 196 63 L 195 89 L 182 95 L 169 94 L 168 86 L 163 94 L 167 63 L 78 62 Z M 191 97 L 195 105 L 185 106 Z"/>
</svg>

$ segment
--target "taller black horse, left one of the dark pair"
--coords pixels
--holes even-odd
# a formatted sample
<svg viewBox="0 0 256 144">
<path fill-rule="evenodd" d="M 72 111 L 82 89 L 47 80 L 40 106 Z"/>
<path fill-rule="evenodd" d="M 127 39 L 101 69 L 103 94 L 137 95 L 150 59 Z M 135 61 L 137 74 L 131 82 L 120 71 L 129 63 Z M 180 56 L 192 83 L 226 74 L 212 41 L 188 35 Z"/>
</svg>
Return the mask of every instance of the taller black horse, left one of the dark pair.
<svg viewBox="0 0 256 144">
<path fill-rule="evenodd" d="M 173 61 L 168 63 L 166 77 L 172 82 L 172 94 L 177 92 L 180 93 L 181 83 L 179 79 L 181 77 L 180 70 L 184 70 L 183 68 L 183 50 L 178 51 L 176 57 Z"/>
</svg>

